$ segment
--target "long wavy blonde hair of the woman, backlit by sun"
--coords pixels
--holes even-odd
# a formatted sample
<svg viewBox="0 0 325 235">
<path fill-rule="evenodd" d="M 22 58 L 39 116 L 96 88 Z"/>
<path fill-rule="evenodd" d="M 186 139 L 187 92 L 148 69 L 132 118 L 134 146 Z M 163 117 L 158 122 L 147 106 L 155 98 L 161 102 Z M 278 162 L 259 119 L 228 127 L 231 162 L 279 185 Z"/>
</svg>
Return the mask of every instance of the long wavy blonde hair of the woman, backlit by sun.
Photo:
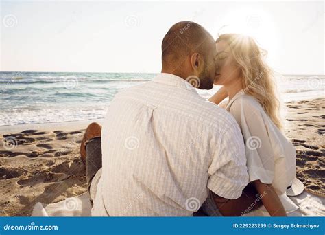
<svg viewBox="0 0 325 235">
<path fill-rule="evenodd" d="M 226 41 L 230 46 L 232 56 L 241 69 L 243 91 L 256 98 L 272 122 L 282 130 L 280 100 L 274 73 L 264 61 L 266 51 L 258 47 L 252 37 L 241 34 L 221 34 L 216 43 L 219 41 Z"/>
</svg>

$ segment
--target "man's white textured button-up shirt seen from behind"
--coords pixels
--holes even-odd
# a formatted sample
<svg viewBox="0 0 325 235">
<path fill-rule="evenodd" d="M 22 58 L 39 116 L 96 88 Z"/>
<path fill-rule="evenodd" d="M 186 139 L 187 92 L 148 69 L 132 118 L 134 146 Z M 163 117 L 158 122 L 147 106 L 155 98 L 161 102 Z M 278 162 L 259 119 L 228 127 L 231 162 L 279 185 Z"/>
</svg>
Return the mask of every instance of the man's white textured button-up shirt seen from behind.
<svg viewBox="0 0 325 235">
<path fill-rule="evenodd" d="M 93 216 L 191 216 L 209 190 L 237 199 L 248 183 L 234 117 L 172 74 L 120 91 L 101 135 Z"/>
</svg>

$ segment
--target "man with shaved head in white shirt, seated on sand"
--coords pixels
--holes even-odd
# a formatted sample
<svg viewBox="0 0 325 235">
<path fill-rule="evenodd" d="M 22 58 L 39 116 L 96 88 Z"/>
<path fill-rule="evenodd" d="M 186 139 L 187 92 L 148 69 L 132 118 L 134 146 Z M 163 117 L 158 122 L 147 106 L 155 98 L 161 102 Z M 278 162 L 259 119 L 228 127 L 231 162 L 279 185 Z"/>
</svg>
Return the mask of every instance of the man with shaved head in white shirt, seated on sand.
<svg viewBox="0 0 325 235">
<path fill-rule="evenodd" d="M 239 126 L 192 86 L 213 88 L 215 56 L 202 26 L 176 23 L 163 39 L 162 73 L 120 91 L 102 130 L 88 126 L 81 151 L 93 216 L 192 216 L 209 194 L 224 215 L 250 205 L 256 192 L 241 199 L 248 173 Z"/>
</svg>

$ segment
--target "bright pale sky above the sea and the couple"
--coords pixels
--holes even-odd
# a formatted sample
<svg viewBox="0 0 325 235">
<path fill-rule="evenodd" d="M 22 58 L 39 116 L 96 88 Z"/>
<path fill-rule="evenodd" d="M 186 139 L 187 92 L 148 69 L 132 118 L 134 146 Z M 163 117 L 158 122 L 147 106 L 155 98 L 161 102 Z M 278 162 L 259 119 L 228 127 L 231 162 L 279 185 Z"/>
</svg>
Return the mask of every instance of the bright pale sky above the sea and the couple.
<svg viewBox="0 0 325 235">
<path fill-rule="evenodd" d="M 1 0 L 0 0 L 1 1 Z M 160 72 L 178 21 L 253 36 L 280 74 L 324 74 L 323 1 L 1 1 L 0 71 Z"/>
</svg>

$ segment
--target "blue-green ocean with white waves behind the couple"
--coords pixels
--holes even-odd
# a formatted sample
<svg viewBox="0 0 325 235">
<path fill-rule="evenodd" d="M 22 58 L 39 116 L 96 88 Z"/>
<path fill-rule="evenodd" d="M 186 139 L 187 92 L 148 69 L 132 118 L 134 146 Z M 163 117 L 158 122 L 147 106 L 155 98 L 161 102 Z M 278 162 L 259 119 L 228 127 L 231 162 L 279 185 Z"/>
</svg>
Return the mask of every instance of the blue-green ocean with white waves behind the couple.
<svg viewBox="0 0 325 235">
<path fill-rule="evenodd" d="M 104 118 L 115 94 L 155 74 L 0 72 L 0 126 Z M 277 76 L 282 100 L 324 97 L 324 75 Z M 217 91 L 197 92 L 209 98 Z"/>
</svg>

